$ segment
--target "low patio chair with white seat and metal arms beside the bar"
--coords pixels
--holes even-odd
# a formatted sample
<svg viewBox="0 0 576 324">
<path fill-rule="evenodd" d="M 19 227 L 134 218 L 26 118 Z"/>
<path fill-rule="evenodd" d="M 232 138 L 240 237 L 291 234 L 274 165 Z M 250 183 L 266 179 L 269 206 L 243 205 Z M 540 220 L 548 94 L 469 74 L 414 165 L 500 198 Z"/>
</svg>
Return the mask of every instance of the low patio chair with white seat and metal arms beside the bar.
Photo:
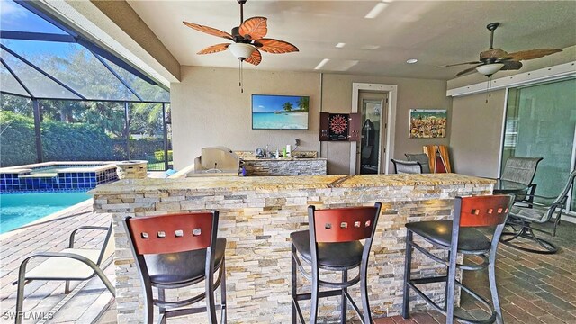
<svg viewBox="0 0 576 324">
<path fill-rule="evenodd" d="M 74 247 L 76 232 L 83 229 L 105 230 L 106 236 L 102 247 L 99 249 Z M 32 280 L 63 280 L 66 282 L 64 293 L 70 293 L 70 281 L 84 281 L 98 275 L 112 296 L 116 297 L 116 290 L 100 267 L 103 261 L 112 256 L 112 253 L 114 253 L 114 238 L 111 222 L 108 227 L 81 226 L 74 229 L 70 234 L 68 248 L 60 252 L 38 252 L 26 257 L 20 264 L 18 280 L 12 283 L 18 284 L 15 323 L 19 324 L 23 320 L 24 285 Z M 27 269 L 28 262 L 37 257 L 45 258 L 45 260 L 40 265 Z"/>
</svg>

